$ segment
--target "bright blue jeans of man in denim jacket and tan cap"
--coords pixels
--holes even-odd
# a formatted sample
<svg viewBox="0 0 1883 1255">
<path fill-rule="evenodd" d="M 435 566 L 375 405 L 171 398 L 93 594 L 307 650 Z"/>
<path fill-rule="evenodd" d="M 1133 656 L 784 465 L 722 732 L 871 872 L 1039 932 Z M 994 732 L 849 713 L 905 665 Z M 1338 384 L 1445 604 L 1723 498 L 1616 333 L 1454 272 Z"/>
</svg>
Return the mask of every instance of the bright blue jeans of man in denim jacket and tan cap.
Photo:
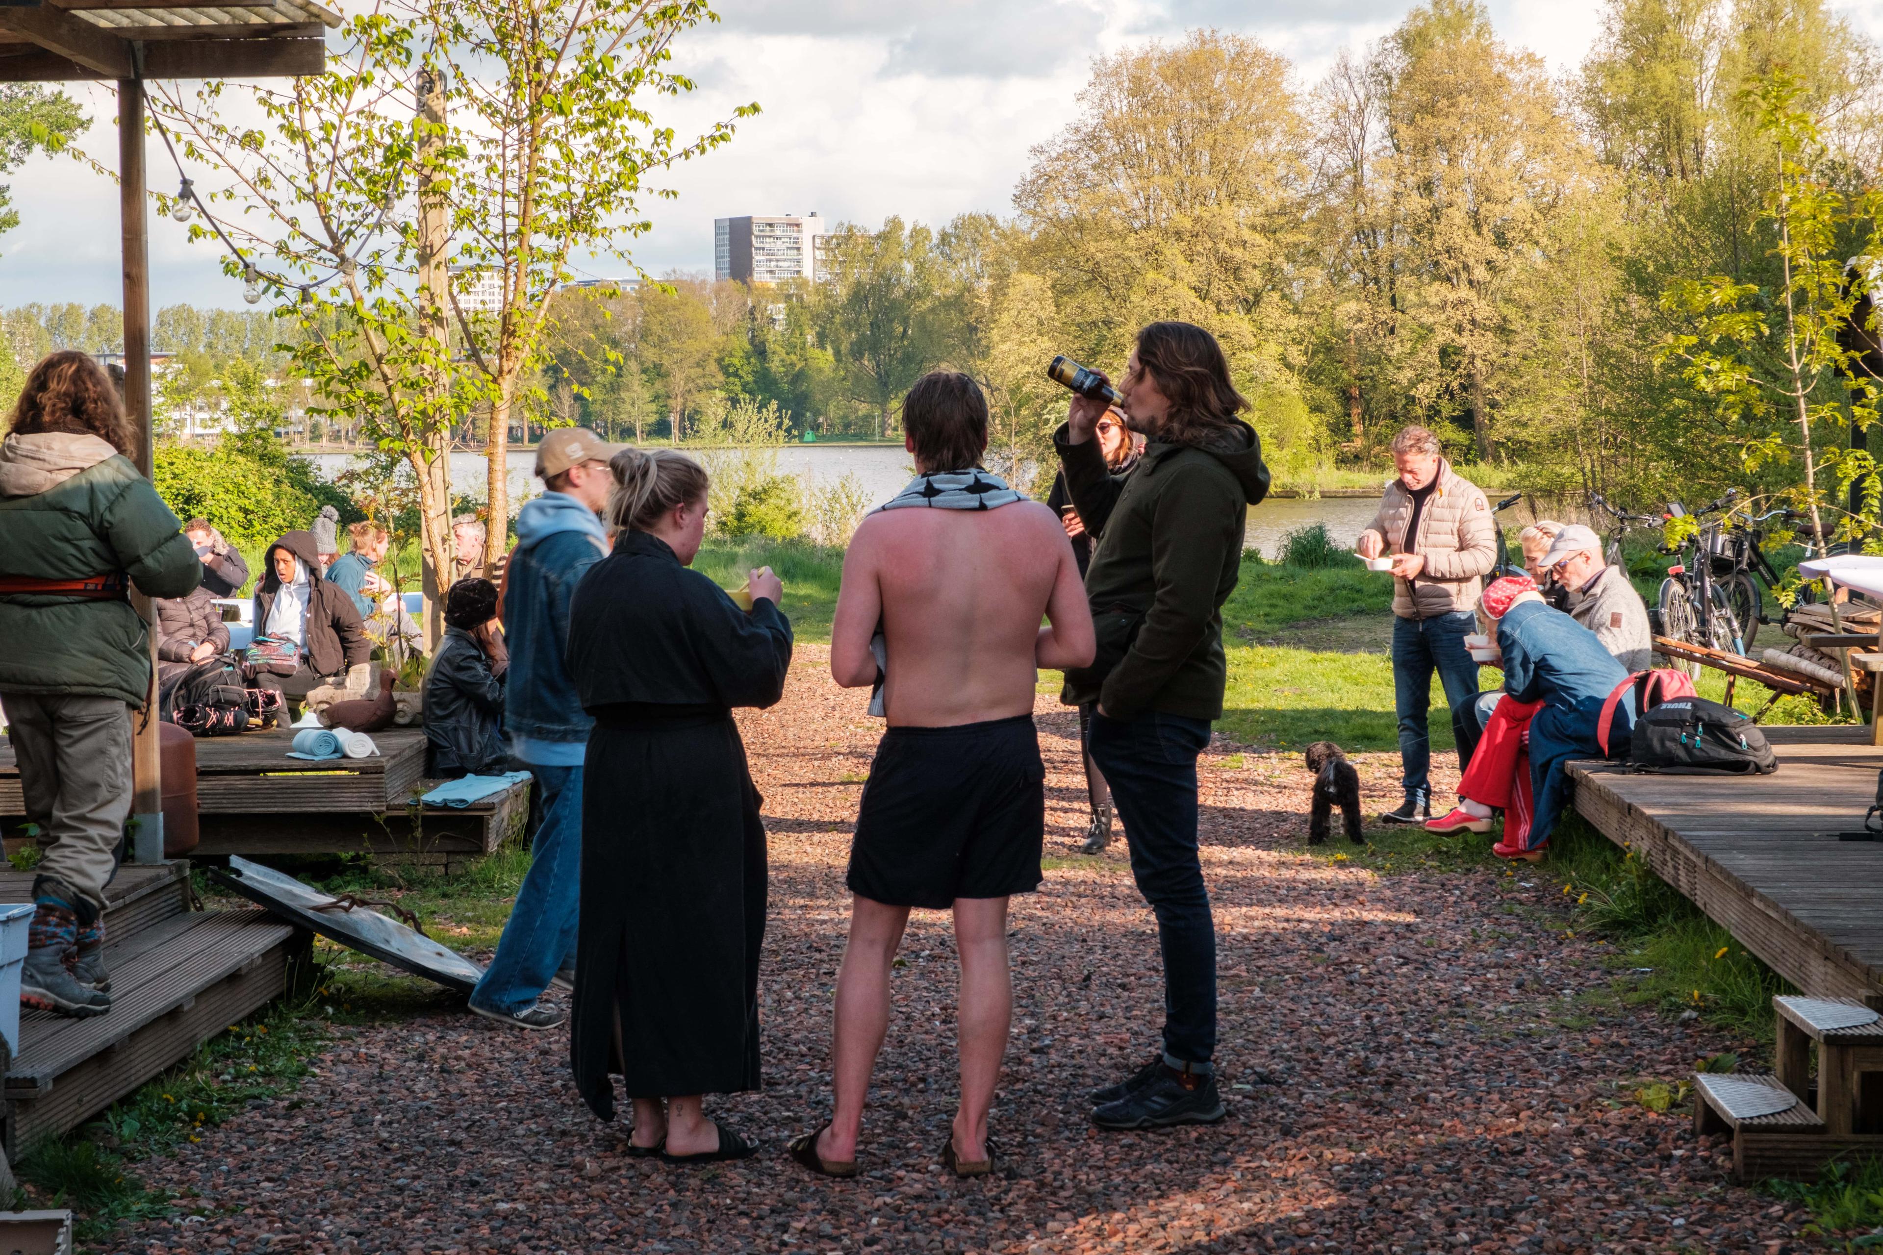
<svg viewBox="0 0 1883 1255">
<path fill-rule="evenodd" d="M 529 1010 L 574 963 L 576 903 L 582 884 L 582 768 L 529 764 L 542 794 L 542 826 L 531 843 L 529 873 L 516 892 L 497 958 L 471 992 L 471 1003 L 499 1014 Z"/>
</svg>

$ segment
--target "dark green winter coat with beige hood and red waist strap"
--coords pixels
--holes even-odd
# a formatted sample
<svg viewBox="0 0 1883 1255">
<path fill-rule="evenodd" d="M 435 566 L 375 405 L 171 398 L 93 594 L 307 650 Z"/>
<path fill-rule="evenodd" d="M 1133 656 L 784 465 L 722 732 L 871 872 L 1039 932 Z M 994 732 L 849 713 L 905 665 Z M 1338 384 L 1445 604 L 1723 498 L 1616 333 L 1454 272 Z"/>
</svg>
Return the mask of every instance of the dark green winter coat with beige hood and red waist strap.
<svg viewBox="0 0 1883 1255">
<path fill-rule="evenodd" d="M 156 489 L 98 437 L 0 444 L 0 580 L 122 572 L 145 596 L 188 596 L 203 564 Z M 0 595 L 0 692 L 107 696 L 143 707 L 151 640 L 124 598 Z"/>
</svg>

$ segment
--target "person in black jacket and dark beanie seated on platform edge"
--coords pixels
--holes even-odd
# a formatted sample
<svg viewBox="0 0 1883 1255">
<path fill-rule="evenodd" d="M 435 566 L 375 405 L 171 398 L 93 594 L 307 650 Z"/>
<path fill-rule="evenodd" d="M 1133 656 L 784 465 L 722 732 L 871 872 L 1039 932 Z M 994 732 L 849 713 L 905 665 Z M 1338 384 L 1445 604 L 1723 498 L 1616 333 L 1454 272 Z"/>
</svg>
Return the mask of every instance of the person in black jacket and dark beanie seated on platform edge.
<svg viewBox="0 0 1883 1255">
<path fill-rule="evenodd" d="M 345 561 L 345 559 L 343 559 Z M 426 775 L 503 771 L 503 677 L 510 655 L 497 630 L 497 585 L 459 580 L 444 596 L 444 640 L 426 675 Z"/>
</svg>

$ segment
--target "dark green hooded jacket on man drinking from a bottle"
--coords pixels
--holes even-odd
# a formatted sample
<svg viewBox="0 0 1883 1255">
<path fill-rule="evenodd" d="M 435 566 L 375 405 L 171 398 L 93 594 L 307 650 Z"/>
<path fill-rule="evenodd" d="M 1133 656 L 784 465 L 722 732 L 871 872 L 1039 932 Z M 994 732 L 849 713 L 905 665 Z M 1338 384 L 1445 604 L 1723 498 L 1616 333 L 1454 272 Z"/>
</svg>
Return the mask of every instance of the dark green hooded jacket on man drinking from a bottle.
<svg viewBox="0 0 1883 1255">
<path fill-rule="evenodd" d="M 1228 662 L 1222 604 L 1243 566 L 1248 506 L 1269 491 L 1262 438 L 1237 421 L 1207 448 L 1152 440 L 1126 474 L 1098 440 L 1053 433 L 1066 487 L 1098 549 L 1085 572 L 1098 657 L 1066 672 L 1060 700 L 1111 719 L 1145 711 L 1218 719 Z"/>
</svg>

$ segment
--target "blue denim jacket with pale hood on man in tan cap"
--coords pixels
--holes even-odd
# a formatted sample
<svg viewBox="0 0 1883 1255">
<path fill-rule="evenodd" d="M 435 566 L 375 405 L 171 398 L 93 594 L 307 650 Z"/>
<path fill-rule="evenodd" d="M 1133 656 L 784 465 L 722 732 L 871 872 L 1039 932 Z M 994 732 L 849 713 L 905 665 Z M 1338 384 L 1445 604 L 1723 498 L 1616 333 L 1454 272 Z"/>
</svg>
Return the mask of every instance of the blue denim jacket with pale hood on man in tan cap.
<svg viewBox="0 0 1883 1255">
<path fill-rule="evenodd" d="M 561 493 L 546 493 L 525 504 L 523 516 L 537 514 L 533 506 L 550 497 L 571 502 Z M 510 559 L 503 596 L 503 634 L 510 649 L 503 728 L 512 739 L 586 741 L 595 721 L 582 709 L 569 677 L 569 598 L 603 553 L 587 531 L 555 529 L 540 538 L 533 538 L 531 531 L 520 516 L 522 540 Z"/>
</svg>

